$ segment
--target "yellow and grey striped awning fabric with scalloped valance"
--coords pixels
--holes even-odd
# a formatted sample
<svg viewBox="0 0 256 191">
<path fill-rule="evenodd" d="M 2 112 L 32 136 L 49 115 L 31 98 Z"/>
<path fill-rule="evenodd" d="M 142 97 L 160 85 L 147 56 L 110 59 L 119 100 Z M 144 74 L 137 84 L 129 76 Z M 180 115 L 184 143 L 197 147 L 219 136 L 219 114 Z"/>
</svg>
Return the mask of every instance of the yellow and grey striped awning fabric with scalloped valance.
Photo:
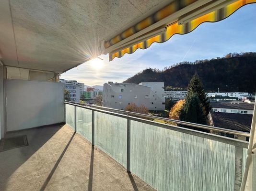
<svg viewBox="0 0 256 191">
<path fill-rule="evenodd" d="M 152 24 L 161 21 L 162 19 L 170 16 L 171 14 L 182 10 L 186 6 L 191 5 L 192 3 L 198 0 L 175 0 L 162 10 L 157 11 L 150 17 L 146 18 L 143 21 L 140 21 L 135 26 L 127 29 L 126 31 L 120 33 L 116 37 L 110 39 L 105 42 L 105 48 L 109 48 L 117 42 L 121 42 L 122 40 L 128 38 L 129 36 L 135 34 L 136 32 L 140 32 L 141 30 L 151 26 Z M 186 34 L 188 32 L 193 31 L 203 22 L 217 22 L 221 21 L 228 16 L 230 16 L 233 12 L 241 8 L 242 6 L 250 3 L 256 3 L 256 0 L 231 0 L 230 3 L 224 4 L 223 6 L 217 7 L 215 10 L 211 10 L 210 12 L 200 15 L 197 18 L 193 18 L 192 20 L 179 23 L 179 21 L 175 21 L 174 23 L 167 25 L 165 32 L 161 34 L 156 34 L 156 36 L 145 39 L 141 42 L 136 42 L 134 44 L 129 44 L 128 47 L 123 47 L 123 49 L 119 48 L 113 50 L 109 53 L 109 61 L 112 61 L 115 57 L 122 57 L 125 53 L 134 53 L 137 49 L 146 49 L 153 42 L 165 42 L 169 40 L 174 34 Z"/>
</svg>

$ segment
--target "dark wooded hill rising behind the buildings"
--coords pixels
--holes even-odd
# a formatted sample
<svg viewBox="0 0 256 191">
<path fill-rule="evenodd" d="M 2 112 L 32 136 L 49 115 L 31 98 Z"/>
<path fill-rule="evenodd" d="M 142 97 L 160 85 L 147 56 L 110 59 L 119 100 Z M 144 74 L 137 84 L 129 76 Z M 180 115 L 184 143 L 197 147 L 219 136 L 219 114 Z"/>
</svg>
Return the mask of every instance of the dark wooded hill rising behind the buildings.
<svg viewBox="0 0 256 191">
<path fill-rule="evenodd" d="M 249 92 L 256 90 L 256 53 L 229 53 L 223 58 L 182 62 L 165 68 L 145 69 L 126 83 L 164 82 L 164 86 L 186 88 L 197 73 L 207 92 Z"/>
</svg>

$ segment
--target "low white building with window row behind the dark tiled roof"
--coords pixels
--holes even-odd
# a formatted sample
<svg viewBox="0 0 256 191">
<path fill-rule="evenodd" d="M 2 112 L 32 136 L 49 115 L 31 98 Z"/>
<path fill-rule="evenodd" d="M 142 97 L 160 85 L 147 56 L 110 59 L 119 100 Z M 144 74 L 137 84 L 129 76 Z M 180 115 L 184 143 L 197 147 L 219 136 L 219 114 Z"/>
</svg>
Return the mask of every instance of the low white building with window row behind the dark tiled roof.
<svg viewBox="0 0 256 191">
<path fill-rule="evenodd" d="M 223 113 L 253 114 L 254 104 L 211 102 L 211 111 Z"/>
</svg>

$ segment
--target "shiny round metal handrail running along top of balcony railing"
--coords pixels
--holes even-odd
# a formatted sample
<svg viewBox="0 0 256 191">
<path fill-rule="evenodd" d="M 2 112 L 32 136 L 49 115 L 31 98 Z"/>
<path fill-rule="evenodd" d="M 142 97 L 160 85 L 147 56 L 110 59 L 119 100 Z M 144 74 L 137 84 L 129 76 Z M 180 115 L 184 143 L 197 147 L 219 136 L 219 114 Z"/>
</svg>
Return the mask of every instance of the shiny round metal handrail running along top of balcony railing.
<svg viewBox="0 0 256 191">
<path fill-rule="evenodd" d="M 146 114 L 140 114 L 140 113 L 135 113 L 135 112 L 130 112 L 130 111 L 123 111 L 123 110 L 118 110 L 118 109 L 113 109 L 113 108 L 103 107 L 103 106 L 93 106 L 93 105 L 89 105 L 89 104 L 81 104 L 81 103 L 76 103 L 76 102 L 71 102 L 71 101 L 65 101 L 65 103 L 68 103 L 68 104 L 71 103 L 74 105 L 87 106 L 87 107 L 94 107 L 94 108 L 99 108 L 101 110 L 107 110 L 107 111 L 114 111 L 116 113 L 121 113 L 121 114 L 128 115 L 128 116 L 143 117 L 143 118 L 147 118 L 147 119 L 160 119 L 160 120 L 163 120 L 166 122 L 174 122 L 174 123 L 177 123 L 180 125 L 203 128 L 203 129 L 207 129 L 207 130 L 215 130 L 215 131 L 222 132 L 222 133 L 229 133 L 229 134 L 239 135 L 239 136 L 244 136 L 244 137 L 250 137 L 250 133 L 227 129 L 227 128 L 201 125 L 201 124 L 196 124 L 196 123 L 191 123 L 191 122 L 186 122 L 186 121 L 179 121 L 179 120 L 163 118 L 163 117 L 155 117 L 155 116 L 150 116 L 150 115 L 146 115 Z"/>
</svg>

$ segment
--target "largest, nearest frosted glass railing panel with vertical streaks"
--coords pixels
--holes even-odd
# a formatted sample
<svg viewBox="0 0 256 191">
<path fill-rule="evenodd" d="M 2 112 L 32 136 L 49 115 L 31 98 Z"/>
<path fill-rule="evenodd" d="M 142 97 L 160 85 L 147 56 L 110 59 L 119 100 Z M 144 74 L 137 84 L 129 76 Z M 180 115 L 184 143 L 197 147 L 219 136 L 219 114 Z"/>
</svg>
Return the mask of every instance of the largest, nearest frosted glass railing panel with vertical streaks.
<svg viewBox="0 0 256 191">
<path fill-rule="evenodd" d="M 158 191 L 233 191 L 235 146 L 131 121 L 130 170 Z"/>
</svg>

